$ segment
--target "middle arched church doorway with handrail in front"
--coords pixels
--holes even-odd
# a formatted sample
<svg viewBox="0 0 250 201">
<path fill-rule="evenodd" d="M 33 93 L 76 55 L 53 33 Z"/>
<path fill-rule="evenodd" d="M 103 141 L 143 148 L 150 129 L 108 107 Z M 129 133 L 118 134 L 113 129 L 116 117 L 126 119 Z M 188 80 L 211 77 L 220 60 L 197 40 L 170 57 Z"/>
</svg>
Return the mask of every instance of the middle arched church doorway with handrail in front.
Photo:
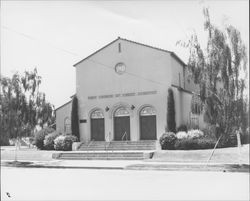
<svg viewBox="0 0 250 201">
<path fill-rule="evenodd" d="M 125 107 L 114 112 L 114 140 L 130 140 L 130 116 Z"/>
</svg>

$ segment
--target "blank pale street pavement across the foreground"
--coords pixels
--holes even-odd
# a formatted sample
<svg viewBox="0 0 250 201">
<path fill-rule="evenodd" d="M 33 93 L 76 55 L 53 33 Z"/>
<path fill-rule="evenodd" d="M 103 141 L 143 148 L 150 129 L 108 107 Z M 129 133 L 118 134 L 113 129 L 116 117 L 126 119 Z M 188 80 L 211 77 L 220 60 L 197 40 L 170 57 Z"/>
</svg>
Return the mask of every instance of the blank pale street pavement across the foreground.
<svg viewBox="0 0 250 201">
<path fill-rule="evenodd" d="M 1 200 L 249 200 L 249 174 L 2 167 Z"/>
</svg>

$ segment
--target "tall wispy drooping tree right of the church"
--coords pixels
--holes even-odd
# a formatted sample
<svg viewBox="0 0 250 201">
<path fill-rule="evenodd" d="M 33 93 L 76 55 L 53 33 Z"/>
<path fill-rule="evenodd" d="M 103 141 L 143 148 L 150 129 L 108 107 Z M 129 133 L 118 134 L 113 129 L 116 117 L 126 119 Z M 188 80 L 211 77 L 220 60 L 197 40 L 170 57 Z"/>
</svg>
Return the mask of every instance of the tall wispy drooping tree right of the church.
<svg viewBox="0 0 250 201">
<path fill-rule="evenodd" d="M 221 30 L 211 23 L 207 8 L 203 14 L 206 48 L 201 48 L 196 34 L 182 45 L 189 50 L 187 66 L 200 87 L 204 120 L 217 125 L 221 134 L 228 137 L 235 128 L 244 129 L 241 122 L 245 122 L 245 81 L 240 72 L 246 73 L 246 46 L 235 27 L 227 25 Z"/>
</svg>

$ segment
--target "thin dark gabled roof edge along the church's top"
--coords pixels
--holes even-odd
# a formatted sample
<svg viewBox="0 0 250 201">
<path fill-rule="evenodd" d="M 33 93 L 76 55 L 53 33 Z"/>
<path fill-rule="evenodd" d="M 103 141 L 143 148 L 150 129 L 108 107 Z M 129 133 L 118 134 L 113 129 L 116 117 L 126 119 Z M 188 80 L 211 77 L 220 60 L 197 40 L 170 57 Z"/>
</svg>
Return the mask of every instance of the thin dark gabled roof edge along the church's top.
<svg viewBox="0 0 250 201">
<path fill-rule="evenodd" d="M 74 64 L 73 66 L 77 66 L 78 64 L 82 63 L 83 61 L 85 61 L 86 59 L 90 58 L 91 56 L 95 55 L 96 53 L 100 52 L 101 50 L 105 49 L 106 47 L 108 47 L 109 45 L 115 43 L 116 41 L 118 40 L 123 40 L 123 41 L 127 41 L 127 42 L 130 42 L 130 43 L 133 43 L 133 44 L 137 44 L 137 45 L 141 45 L 141 46 L 144 46 L 144 47 L 148 47 L 148 48 L 152 48 L 152 49 L 155 49 L 155 50 L 158 50 L 158 51 L 162 51 L 162 52 L 166 52 L 166 53 L 169 53 L 172 57 L 174 57 L 179 63 L 181 63 L 181 65 L 183 66 L 186 66 L 186 64 L 184 63 L 184 61 L 182 61 L 180 59 L 180 57 L 178 57 L 174 52 L 171 52 L 171 51 L 168 51 L 168 50 L 164 50 L 164 49 L 161 49 L 161 48 L 157 48 L 157 47 L 153 47 L 153 46 L 150 46 L 150 45 L 146 45 L 146 44 L 143 44 L 143 43 L 138 43 L 138 42 L 135 42 L 135 41 L 132 41 L 132 40 L 128 40 L 128 39 L 125 39 L 125 38 L 120 38 L 118 37 L 117 39 L 113 40 L 112 42 L 108 43 L 107 45 L 105 45 L 104 47 L 102 47 L 101 49 L 95 51 L 94 53 L 92 53 L 91 55 L 85 57 L 84 59 L 82 59 L 81 61 L 77 62 L 76 64 Z"/>
</svg>

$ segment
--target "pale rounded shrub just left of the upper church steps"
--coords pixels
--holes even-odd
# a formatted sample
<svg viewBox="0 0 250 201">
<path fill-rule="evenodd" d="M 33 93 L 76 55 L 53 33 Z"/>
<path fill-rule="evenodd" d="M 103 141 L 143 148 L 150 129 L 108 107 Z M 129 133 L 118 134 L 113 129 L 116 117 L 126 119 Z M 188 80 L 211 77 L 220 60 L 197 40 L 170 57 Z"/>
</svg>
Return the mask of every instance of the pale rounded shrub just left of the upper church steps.
<svg viewBox="0 0 250 201">
<path fill-rule="evenodd" d="M 71 151 L 73 142 L 77 141 L 77 137 L 74 135 L 60 135 L 54 140 L 55 150 Z"/>
</svg>

